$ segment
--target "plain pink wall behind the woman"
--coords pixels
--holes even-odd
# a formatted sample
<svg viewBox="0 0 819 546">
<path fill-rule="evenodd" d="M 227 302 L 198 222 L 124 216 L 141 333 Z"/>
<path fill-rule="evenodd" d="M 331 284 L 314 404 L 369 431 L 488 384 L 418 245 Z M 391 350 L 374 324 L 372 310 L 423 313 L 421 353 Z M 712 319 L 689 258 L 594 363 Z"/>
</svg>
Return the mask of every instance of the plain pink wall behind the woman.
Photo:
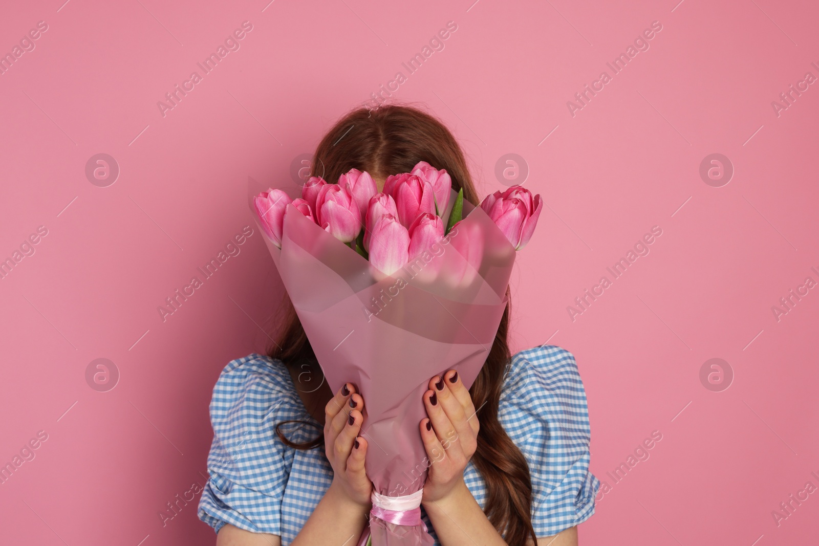
<svg viewBox="0 0 819 546">
<path fill-rule="evenodd" d="M 483 194 L 515 153 L 545 199 L 513 274 L 514 349 L 577 358 L 591 468 L 610 487 L 581 543 L 815 541 L 819 494 L 771 516 L 819 486 L 819 294 L 771 310 L 819 281 L 817 83 L 771 106 L 819 76 L 812 2 L 114 3 L 16 2 L 0 18 L 0 52 L 48 24 L 0 75 L 0 259 L 48 229 L 0 280 L 0 463 L 48 434 L 0 485 L 3 542 L 213 543 L 198 495 L 165 526 L 159 512 L 204 483 L 219 372 L 266 341 L 280 285 L 260 234 L 165 322 L 157 307 L 253 225 L 248 177 L 289 178 L 398 71 L 394 97 L 450 126 Z M 240 49 L 163 116 L 156 103 L 246 20 Z M 649 49 L 572 116 L 654 20 Z M 409 74 L 448 21 L 445 48 Z M 98 153 L 120 166 L 107 187 L 85 176 Z M 699 175 L 712 153 L 735 169 L 722 187 Z M 653 226 L 649 255 L 572 321 Z M 86 382 L 98 358 L 120 372 L 113 390 Z M 730 388 L 700 381 L 712 358 Z M 649 459 L 615 483 L 652 431 Z"/>
</svg>

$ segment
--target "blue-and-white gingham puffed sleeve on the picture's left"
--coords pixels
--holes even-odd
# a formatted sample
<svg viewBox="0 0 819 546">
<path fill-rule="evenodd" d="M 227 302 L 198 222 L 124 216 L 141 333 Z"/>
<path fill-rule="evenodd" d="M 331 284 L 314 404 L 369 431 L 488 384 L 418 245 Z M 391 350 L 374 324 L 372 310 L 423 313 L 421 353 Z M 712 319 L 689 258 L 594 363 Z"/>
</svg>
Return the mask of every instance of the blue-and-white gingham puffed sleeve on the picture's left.
<svg viewBox="0 0 819 546">
<path fill-rule="evenodd" d="M 287 377 L 284 377 L 287 375 Z M 281 535 L 282 498 L 292 449 L 278 439 L 278 422 L 298 418 L 287 369 L 261 354 L 230 362 L 210 400 L 213 442 L 210 479 L 197 515 L 218 533 L 225 523 L 256 533 Z"/>
</svg>

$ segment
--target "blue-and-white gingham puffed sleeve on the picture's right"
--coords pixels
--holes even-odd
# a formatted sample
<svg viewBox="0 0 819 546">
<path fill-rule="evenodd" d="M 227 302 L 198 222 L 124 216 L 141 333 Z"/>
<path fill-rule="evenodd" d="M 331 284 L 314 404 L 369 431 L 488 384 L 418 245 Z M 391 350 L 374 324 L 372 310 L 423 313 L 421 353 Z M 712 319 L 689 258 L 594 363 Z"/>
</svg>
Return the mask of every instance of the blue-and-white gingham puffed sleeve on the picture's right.
<svg viewBox="0 0 819 546">
<path fill-rule="evenodd" d="M 535 535 L 591 517 L 600 481 L 589 472 L 589 411 L 574 356 L 555 345 L 515 354 L 498 412 L 529 464 Z"/>
</svg>

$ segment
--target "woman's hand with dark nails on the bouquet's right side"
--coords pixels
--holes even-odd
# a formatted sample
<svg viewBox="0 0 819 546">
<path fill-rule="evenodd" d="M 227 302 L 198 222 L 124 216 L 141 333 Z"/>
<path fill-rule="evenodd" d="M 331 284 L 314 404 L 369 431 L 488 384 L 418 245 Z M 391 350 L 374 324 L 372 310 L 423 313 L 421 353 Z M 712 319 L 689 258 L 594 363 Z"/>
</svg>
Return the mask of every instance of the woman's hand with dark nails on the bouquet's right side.
<svg viewBox="0 0 819 546">
<path fill-rule="evenodd" d="M 449 370 L 432 377 L 429 388 L 423 394 L 429 417 L 420 423 L 430 461 L 422 503 L 443 499 L 464 483 L 464 469 L 475 453 L 478 431 L 472 397 L 458 372 Z"/>
</svg>

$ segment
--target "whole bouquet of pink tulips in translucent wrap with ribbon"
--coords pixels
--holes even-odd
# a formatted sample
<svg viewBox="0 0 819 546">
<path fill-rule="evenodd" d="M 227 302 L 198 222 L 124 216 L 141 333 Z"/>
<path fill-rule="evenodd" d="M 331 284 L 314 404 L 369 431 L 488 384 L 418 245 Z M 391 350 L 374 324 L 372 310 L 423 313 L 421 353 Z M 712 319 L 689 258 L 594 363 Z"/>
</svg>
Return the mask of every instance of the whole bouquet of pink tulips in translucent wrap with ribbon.
<svg viewBox="0 0 819 546">
<path fill-rule="evenodd" d="M 249 192 L 328 385 L 349 381 L 366 400 L 373 509 L 358 544 L 432 544 L 419 508 L 431 464 L 418 432 L 422 395 L 449 369 L 472 386 L 541 197 L 515 186 L 476 207 L 424 161 L 382 192 L 357 169 L 338 183 L 310 178 L 296 199 Z"/>
</svg>

